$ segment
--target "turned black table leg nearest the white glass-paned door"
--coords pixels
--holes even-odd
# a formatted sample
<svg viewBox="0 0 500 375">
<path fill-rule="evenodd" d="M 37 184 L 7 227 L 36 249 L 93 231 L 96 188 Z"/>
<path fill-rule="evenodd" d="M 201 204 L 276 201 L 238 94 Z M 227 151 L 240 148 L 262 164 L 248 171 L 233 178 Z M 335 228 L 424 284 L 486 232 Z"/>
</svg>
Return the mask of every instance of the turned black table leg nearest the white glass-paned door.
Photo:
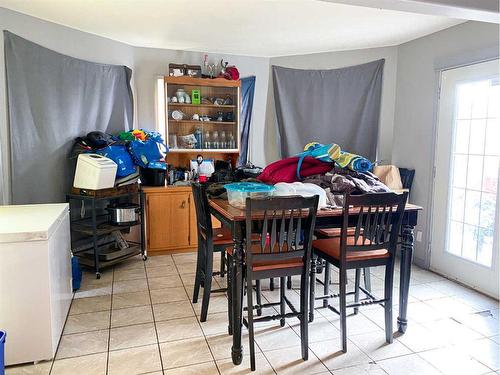
<svg viewBox="0 0 500 375">
<path fill-rule="evenodd" d="M 408 292 L 410 289 L 411 263 L 413 259 L 413 225 L 403 225 L 403 243 L 401 245 L 401 270 L 399 280 L 399 316 L 398 330 L 405 333 L 408 325 Z"/>
</svg>

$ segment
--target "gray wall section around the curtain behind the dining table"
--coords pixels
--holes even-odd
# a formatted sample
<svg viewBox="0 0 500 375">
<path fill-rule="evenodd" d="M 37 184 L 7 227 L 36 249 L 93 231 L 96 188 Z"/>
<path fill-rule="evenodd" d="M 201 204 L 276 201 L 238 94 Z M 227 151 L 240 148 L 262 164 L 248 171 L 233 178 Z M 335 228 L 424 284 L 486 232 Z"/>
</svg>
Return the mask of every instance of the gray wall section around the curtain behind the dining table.
<svg viewBox="0 0 500 375">
<path fill-rule="evenodd" d="M 315 53 L 300 56 L 271 58 L 271 65 L 298 69 L 335 69 L 369 61 L 385 59 L 382 83 L 382 107 L 380 111 L 380 129 L 378 137 L 379 160 L 391 160 L 392 133 L 394 127 L 394 102 L 396 92 L 397 47 L 373 48 L 355 51 Z M 266 116 L 266 161 L 279 159 L 279 144 L 275 133 L 276 115 L 272 98 L 272 79 L 269 80 L 269 100 Z M 314 124 L 313 124 L 314 125 Z M 334 140 L 331 140 L 334 141 Z"/>
</svg>

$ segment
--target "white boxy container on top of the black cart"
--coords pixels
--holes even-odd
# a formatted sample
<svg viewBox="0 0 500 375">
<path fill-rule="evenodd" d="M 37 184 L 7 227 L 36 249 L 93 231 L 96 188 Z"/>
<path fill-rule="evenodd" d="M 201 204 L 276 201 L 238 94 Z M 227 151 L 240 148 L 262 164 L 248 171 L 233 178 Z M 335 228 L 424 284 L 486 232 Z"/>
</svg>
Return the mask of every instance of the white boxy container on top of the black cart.
<svg viewBox="0 0 500 375">
<path fill-rule="evenodd" d="M 104 156 L 80 154 L 76 163 L 73 186 L 80 189 L 109 189 L 115 186 L 118 166 Z"/>
</svg>

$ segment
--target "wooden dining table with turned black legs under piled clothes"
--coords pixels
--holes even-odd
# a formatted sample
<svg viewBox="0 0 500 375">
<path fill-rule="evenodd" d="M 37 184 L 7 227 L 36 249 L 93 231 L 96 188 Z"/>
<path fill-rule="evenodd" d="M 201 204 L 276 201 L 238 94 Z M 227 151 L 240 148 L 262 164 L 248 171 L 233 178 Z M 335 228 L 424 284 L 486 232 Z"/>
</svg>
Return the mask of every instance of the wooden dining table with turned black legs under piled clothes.
<svg viewBox="0 0 500 375">
<path fill-rule="evenodd" d="M 232 300 L 232 312 L 230 311 L 229 330 L 233 335 L 233 346 L 231 357 L 235 365 L 239 365 L 243 359 L 243 347 L 241 345 L 241 328 L 243 317 L 243 266 L 244 266 L 244 239 L 246 212 L 244 209 L 231 206 L 227 199 L 213 198 L 209 200 L 210 211 L 222 225 L 231 229 L 233 237 L 233 257 L 231 277 L 231 290 L 228 290 L 228 298 Z M 399 281 L 399 315 L 398 330 L 401 333 L 406 331 L 408 325 L 408 292 L 410 287 L 411 264 L 413 258 L 414 236 L 413 231 L 417 225 L 418 213 L 422 207 L 407 203 L 403 213 L 402 222 L 402 243 L 401 243 L 401 266 Z M 357 219 L 355 209 L 351 209 L 350 217 L 353 222 Z M 252 220 L 259 221 L 263 218 L 255 214 Z M 316 215 L 315 228 L 341 228 L 342 209 L 321 209 Z"/>
</svg>

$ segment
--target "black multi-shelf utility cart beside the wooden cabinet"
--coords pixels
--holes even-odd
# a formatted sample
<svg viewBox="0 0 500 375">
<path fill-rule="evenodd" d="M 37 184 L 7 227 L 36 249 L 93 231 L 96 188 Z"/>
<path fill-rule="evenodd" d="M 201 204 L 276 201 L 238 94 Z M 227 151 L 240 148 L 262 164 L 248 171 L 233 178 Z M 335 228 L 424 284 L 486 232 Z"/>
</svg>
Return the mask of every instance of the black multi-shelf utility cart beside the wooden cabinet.
<svg viewBox="0 0 500 375">
<path fill-rule="evenodd" d="M 142 255 L 147 259 L 144 234 L 144 197 L 138 184 L 103 190 L 73 188 L 66 196 L 70 204 L 71 249 L 79 263 L 94 268 L 96 278 L 101 277 L 101 269 L 112 266 L 133 256 Z M 139 220 L 125 225 L 110 223 L 106 207 L 114 203 L 139 203 Z M 79 203 L 79 205 L 78 205 Z M 80 211 L 79 215 L 76 212 Z M 130 233 L 133 227 L 140 227 L 140 241 L 127 240 L 128 248 L 115 246 L 113 232 Z"/>
</svg>

